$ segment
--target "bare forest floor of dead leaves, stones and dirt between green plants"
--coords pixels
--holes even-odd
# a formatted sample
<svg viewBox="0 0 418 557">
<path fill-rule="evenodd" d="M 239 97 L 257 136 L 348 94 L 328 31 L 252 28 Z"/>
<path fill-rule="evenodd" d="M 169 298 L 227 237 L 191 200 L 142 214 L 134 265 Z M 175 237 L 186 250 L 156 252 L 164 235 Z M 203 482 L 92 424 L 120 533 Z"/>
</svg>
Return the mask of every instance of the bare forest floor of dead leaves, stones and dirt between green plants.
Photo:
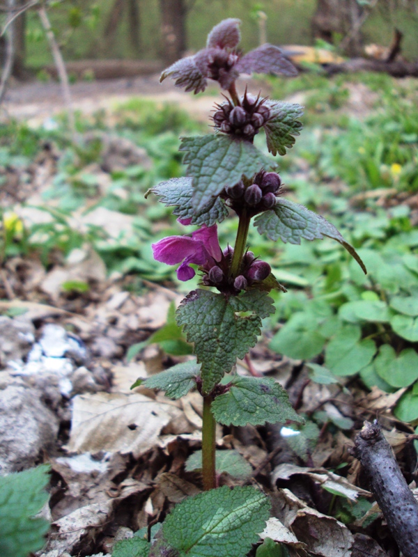
<svg viewBox="0 0 418 557">
<path fill-rule="evenodd" d="M 254 81 L 249 89 L 258 93 L 259 87 Z M 359 83 L 348 83 L 346 88 L 344 113 L 365 118 L 378 94 Z M 159 84 L 157 75 L 77 82 L 71 93 L 78 118 L 103 111 L 109 127 L 118 123 L 117 107 L 132 97 L 176 104 L 201 123 L 208 121 L 213 104 L 221 98 L 215 89 L 214 94 L 210 90 L 194 97 L 171 82 Z M 287 100 L 303 104 L 304 93 Z M 19 84 L 8 91 L 2 118 L 47 129 L 63 108 L 59 84 Z M 146 260 L 144 242 L 139 248 L 144 250 L 144 261 L 130 260 L 130 271 L 115 267 L 109 272 L 105 265 L 112 249 L 127 253 L 137 249 L 134 235 L 141 237 L 149 228 L 144 236 L 149 240 L 162 232 L 158 215 L 153 214 L 156 204 L 141 212 L 142 221 L 100 205 L 102 198 L 116 203 L 115 197 L 123 205 L 131 194 L 129 180 L 141 178 L 139 167 L 149 170 L 155 160 L 142 148 L 135 150 L 133 141 L 109 143 L 100 161 L 88 162 L 64 177 L 63 182 L 82 189 L 86 201 L 69 210 L 68 220 L 54 221 L 61 218 L 62 199 L 45 196 L 61 183 L 65 153 L 65 148 L 49 145 L 23 171 L 5 171 L 3 207 L 15 211 L 24 226 L 38 226 L 40 246 L 42 234 L 48 237 L 48 227 L 58 222 L 56 241 L 65 244 L 68 253 L 62 255 L 61 244 L 49 249 L 47 262 L 39 255 L 41 249 L 16 253 L 0 269 L 0 393 L 8 391 L 8 400 L 15 401 L 1 402 L 0 397 L 10 416 L 9 433 L 0 442 L 0 463 L 6 471 L 40 462 L 52 466 L 48 516 L 52 528 L 44 551 L 37 555 L 110 556 L 116 541 L 162 521 L 173 505 L 201 491 L 199 471 L 185 467 L 185 461 L 201 448 L 202 406 L 196 392 L 172 401 L 144 387 L 130 390 L 138 377 L 149 377 L 188 357 L 175 351 L 173 355 L 164 343 L 148 342 L 170 322 L 173 304 L 185 290 L 178 290 L 178 283 L 164 272 L 158 275 L 161 266 L 155 270 Z M 298 179 L 309 182 L 309 166 L 302 160 L 298 164 Z M 130 168 L 137 174 L 130 174 Z M 13 181 L 17 176 L 24 177 L 19 194 L 20 182 Z M 47 203 L 49 212 L 39 209 L 42 203 Z M 87 213 L 86 207 L 91 209 Z M 160 217 L 167 223 L 167 212 Z M 92 230 L 99 230 L 95 242 L 100 249 L 78 242 Z M 69 249 L 72 232 L 75 247 Z M 284 555 L 397 557 L 396 544 L 351 448 L 363 421 L 379 415 L 405 476 L 415 480 L 417 458 L 408 441 L 413 427 L 393 414 L 405 389 L 369 390 L 356 376 L 311 380 L 304 359 L 270 350 L 271 337 L 272 331 L 267 331 L 250 359 L 238 362 L 238 373 L 274 377 L 300 413 L 310 417 L 321 411 L 328 418 L 322 428 L 309 422 L 299 444 L 294 441 L 297 436 L 286 437 L 289 432 L 283 424 L 218 427 L 217 448 L 233 449 L 247 461 L 235 469 L 219 469 L 219 485 L 254 483 L 265 488 L 275 512 L 265 536 L 283 544 Z M 184 343 L 180 336 L 176 341 L 179 346 Z M 130 352 L 134 345 L 137 352 Z"/>
</svg>

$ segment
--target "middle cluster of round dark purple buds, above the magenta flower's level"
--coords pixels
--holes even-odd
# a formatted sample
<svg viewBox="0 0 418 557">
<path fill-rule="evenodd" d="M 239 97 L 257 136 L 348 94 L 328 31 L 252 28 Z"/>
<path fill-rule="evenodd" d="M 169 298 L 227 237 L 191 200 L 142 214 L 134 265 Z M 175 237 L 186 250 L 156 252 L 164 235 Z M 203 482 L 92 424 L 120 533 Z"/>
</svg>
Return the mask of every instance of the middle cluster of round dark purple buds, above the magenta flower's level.
<svg viewBox="0 0 418 557">
<path fill-rule="evenodd" d="M 280 189 L 281 178 L 277 173 L 260 171 L 248 185 L 240 180 L 237 184 L 226 187 L 221 195 L 226 200 L 226 205 L 237 214 L 241 214 L 242 208 L 246 207 L 247 214 L 254 216 L 274 207 Z"/>
</svg>

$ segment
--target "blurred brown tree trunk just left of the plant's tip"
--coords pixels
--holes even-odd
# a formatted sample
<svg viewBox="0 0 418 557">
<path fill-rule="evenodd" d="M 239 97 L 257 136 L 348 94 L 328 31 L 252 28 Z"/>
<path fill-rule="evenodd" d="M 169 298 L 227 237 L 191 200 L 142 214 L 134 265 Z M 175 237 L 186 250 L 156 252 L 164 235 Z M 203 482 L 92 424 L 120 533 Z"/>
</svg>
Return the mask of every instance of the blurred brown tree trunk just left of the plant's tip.
<svg viewBox="0 0 418 557">
<path fill-rule="evenodd" d="M 164 41 L 164 61 L 171 64 L 181 58 L 186 49 L 185 0 L 160 0 L 161 30 Z"/>
</svg>

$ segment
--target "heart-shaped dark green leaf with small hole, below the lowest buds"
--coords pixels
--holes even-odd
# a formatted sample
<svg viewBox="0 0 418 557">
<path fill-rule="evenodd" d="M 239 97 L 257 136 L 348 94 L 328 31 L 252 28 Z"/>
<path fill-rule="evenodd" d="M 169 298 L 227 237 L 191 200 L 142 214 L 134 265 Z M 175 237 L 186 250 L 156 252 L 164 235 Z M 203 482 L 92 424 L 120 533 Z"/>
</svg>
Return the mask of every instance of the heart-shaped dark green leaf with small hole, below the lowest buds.
<svg viewBox="0 0 418 557">
<path fill-rule="evenodd" d="M 240 312 L 251 312 L 240 315 Z M 203 393 L 209 393 L 257 341 L 261 320 L 274 312 L 266 292 L 249 290 L 226 297 L 208 290 L 190 292 L 177 310 L 187 342 L 201 363 Z"/>
</svg>

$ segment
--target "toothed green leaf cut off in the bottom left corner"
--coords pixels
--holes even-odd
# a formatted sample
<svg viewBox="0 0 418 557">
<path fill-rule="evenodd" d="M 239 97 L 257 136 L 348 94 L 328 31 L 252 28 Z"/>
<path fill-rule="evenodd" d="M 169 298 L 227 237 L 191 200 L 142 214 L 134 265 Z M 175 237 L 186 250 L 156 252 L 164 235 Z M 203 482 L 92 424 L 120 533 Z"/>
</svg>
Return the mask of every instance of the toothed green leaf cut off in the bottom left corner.
<svg viewBox="0 0 418 557">
<path fill-rule="evenodd" d="M 33 518 L 49 495 L 49 466 L 0 477 L 0 555 L 27 557 L 45 544 L 49 524 Z"/>
</svg>

